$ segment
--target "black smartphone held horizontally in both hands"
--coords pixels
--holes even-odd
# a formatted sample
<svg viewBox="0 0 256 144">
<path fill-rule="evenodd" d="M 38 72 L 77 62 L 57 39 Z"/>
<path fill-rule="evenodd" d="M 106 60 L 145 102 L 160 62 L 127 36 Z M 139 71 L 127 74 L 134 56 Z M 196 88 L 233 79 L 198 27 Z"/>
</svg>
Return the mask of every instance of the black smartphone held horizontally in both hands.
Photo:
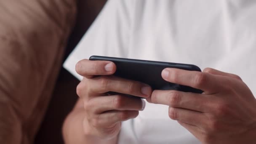
<svg viewBox="0 0 256 144">
<path fill-rule="evenodd" d="M 196 88 L 167 82 L 161 76 L 163 69 L 167 67 L 201 72 L 199 67 L 192 64 L 123 59 L 107 56 L 91 56 L 89 60 L 112 61 L 117 67 L 114 74 L 115 76 L 146 83 L 150 85 L 153 90 L 177 90 L 203 93 L 202 90 Z"/>
</svg>

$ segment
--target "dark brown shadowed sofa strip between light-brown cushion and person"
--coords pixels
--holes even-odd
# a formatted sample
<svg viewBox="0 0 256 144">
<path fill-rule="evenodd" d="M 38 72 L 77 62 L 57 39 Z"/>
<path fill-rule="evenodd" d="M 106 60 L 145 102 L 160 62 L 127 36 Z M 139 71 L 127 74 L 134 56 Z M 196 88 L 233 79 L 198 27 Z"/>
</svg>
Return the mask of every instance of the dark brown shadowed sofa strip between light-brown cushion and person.
<svg viewBox="0 0 256 144">
<path fill-rule="evenodd" d="M 64 60 L 83 37 L 107 0 L 78 0 L 75 26 L 69 36 Z M 80 81 L 63 67 L 59 73 L 48 110 L 35 138 L 35 144 L 63 144 L 61 127 L 77 101 L 76 86 Z M 50 131 L 49 131 L 50 130 Z"/>
</svg>

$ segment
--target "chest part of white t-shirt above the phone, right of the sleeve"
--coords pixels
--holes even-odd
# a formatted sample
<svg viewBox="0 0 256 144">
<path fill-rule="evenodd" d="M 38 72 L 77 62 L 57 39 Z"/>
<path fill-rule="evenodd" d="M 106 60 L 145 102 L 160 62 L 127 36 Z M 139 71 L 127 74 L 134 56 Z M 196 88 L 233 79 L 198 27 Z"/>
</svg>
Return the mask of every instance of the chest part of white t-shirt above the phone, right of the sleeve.
<svg viewBox="0 0 256 144">
<path fill-rule="evenodd" d="M 126 57 L 234 73 L 256 95 L 253 5 L 241 0 L 137 2 Z"/>
</svg>

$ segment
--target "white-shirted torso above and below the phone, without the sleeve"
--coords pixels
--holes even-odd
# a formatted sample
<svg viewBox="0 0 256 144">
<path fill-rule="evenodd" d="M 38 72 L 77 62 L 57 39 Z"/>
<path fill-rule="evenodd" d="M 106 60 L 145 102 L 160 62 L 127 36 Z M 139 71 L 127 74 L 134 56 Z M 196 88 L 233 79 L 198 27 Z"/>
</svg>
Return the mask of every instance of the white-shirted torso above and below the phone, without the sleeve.
<svg viewBox="0 0 256 144">
<path fill-rule="evenodd" d="M 195 64 L 239 75 L 256 95 L 256 1 L 137 0 L 126 58 Z M 129 130 L 128 130 L 129 129 Z M 129 136 L 128 136 L 129 135 Z M 123 123 L 120 144 L 197 144 L 168 117 L 168 106 L 147 103 Z"/>
</svg>

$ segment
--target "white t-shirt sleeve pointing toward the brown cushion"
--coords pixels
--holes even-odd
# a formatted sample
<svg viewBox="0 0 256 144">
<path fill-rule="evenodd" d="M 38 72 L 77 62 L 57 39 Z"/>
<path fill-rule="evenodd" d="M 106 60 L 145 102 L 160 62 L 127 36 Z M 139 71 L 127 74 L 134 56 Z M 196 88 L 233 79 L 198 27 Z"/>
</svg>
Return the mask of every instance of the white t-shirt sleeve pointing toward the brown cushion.
<svg viewBox="0 0 256 144">
<path fill-rule="evenodd" d="M 64 62 L 78 79 L 75 64 L 92 55 L 126 57 L 129 47 L 134 0 L 108 0 L 99 16 Z"/>
</svg>

